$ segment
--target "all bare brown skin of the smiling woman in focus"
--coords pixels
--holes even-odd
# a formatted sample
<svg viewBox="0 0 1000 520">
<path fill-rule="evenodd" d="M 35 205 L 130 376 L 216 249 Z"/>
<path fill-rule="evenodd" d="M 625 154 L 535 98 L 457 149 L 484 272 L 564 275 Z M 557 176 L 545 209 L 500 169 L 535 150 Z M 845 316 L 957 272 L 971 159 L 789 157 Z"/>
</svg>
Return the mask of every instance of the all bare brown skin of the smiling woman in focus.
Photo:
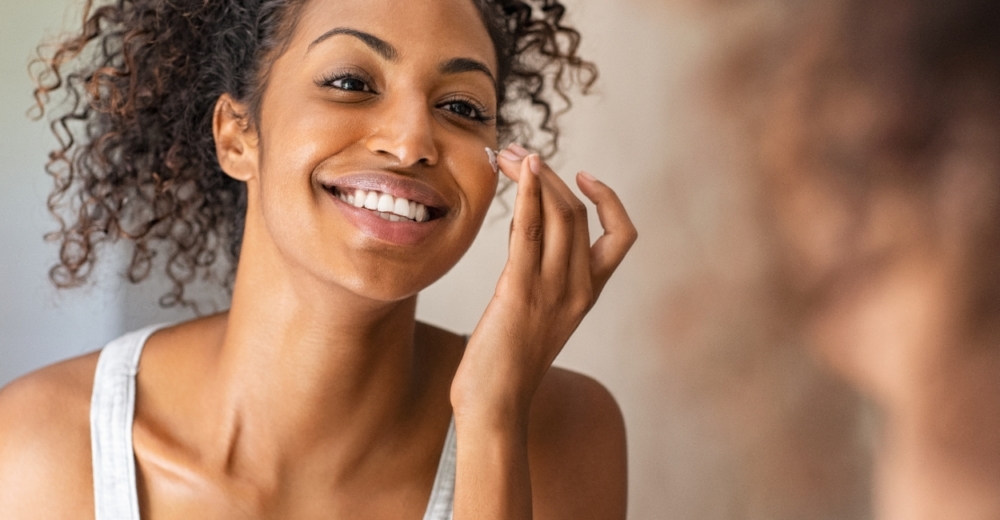
<svg viewBox="0 0 1000 520">
<path fill-rule="evenodd" d="M 452 416 L 456 519 L 624 518 L 621 413 L 597 382 L 549 368 L 635 240 L 610 188 L 578 177 L 606 230 L 591 246 L 555 172 L 506 151 L 518 195 L 489 308 L 468 343 L 415 321 L 417 293 L 465 253 L 496 192 L 495 127 L 463 117 L 470 104 L 495 112 L 489 75 L 441 70 L 461 57 L 495 75 L 478 16 L 466 0 L 310 2 L 270 70 L 259 128 L 220 98 L 219 161 L 247 185 L 243 249 L 231 309 L 159 331 L 143 353 L 144 519 L 421 518 Z M 317 41 L 340 27 L 397 53 L 349 34 Z M 357 77 L 324 82 L 345 70 Z M 428 188 L 446 213 L 413 243 L 376 237 L 326 189 L 358 171 Z M 96 359 L 0 392 L 5 518 L 92 517 Z"/>
</svg>

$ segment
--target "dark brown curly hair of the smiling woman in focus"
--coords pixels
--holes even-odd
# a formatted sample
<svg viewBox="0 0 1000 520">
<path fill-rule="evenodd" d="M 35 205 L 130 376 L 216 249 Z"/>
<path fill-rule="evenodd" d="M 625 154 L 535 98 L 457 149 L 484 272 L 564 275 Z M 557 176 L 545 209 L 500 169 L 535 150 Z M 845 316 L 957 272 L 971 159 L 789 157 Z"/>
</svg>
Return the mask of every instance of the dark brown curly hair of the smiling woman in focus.
<svg viewBox="0 0 1000 520">
<path fill-rule="evenodd" d="M 578 56 L 580 34 L 564 23 L 558 0 L 474 2 L 499 64 L 498 136 L 551 156 L 569 92 L 587 93 L 597 79 L 596 67 Z M 132 283 L 148 278 L 157 251 L 166 253 L 172 289 L 161 306 L 197 310 L 184 290 L 199 278 L 231 289 L 246 192 L 218 164 L 213 108 L 229 94 L 250 107 L 251 125 L 259 121 L 270 63 L 304 4 L 87 0 L 82 30 L 51 52 L 40 48 L 32 64 L 37 117 L 53 93 L 66 97 L 51 125 L 59 146 L 46 166 L 55 183 L 48 207 L 59 223 L 47 236 L 60 244 L 50 272 L 57 287 L 86 282 L 99 246 L 127 239 Z"/>
</svg>

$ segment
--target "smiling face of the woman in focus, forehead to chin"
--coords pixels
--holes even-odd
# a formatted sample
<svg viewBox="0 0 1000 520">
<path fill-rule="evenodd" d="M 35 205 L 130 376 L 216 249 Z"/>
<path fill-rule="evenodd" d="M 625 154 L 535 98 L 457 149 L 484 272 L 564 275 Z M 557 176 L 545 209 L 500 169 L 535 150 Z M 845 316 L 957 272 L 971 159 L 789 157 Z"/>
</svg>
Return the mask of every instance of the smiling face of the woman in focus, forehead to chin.
<svg viewBox="0 0 1000 520">
<path fill-rule="evenodd" d="M 496 193 L 496 77 L 470 0 L 307 2 L 268 74 L 247 233 L 367 297 L 428 286 Z"/>
</svg>

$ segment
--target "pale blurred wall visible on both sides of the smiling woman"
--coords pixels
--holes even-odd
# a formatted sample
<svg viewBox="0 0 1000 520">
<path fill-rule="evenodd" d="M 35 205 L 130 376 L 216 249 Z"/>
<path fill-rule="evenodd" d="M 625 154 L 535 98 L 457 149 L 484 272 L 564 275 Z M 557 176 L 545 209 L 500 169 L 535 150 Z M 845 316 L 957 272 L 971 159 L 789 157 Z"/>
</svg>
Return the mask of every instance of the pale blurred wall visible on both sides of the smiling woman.
<svg viewBox="0 0 1000 520">
<path fill-rule="evenodd" d="M 554 164 L 566 179 L 586 169 L 613 186 L 640 239 L 557 364 L 596 377 L 622 406 L 630 518 L 870 517 L 874 419 L 774 310 L 756 180 L 713 86 L 721 53 L 777 17 L 764 2 L 724 12 L 566 3 L 601 80 L 564 118 Z M 47 282 L 56 250 L 42 239 L 54 226 L 43 165 L 53 139 L 25 115 L 26 67 L 40 41 L 78 23 L 78 9 L 0 0 L 0 385 L 190 315 L 157 307 L 161 282 L 123 284 L 113 250 L 91 287 L 57 293 Z M 471 331 L 506 238 L 498 205 L 467 257 L 422 295 L 419 317 Z"/>
</svg>

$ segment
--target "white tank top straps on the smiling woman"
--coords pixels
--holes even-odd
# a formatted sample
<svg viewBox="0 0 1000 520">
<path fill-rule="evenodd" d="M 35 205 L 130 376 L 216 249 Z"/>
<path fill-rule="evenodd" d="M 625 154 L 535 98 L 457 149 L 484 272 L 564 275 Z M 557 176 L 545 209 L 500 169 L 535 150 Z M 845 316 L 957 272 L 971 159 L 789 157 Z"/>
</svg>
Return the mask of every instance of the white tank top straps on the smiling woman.
<svg viewBox="0 0 1000 520">
<path fill-rule="evenodd" d="M 132 451 L 135 375 L 146 339 L 166 325 L 128 333 L 101 351 L 90 401 L 96 520 L 139 520 Z M 424 520 L 451 520 L 455 496 L 455 421 L 448 427 Z"/>
</svg>

